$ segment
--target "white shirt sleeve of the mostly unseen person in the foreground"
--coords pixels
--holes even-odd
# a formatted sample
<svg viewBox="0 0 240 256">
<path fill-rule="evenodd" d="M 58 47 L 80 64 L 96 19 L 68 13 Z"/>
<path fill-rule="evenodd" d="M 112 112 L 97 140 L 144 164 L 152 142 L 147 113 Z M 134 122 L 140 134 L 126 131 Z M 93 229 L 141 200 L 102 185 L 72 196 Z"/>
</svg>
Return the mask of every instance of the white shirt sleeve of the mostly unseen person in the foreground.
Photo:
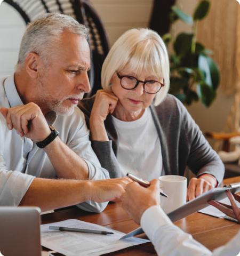
<svg viewBox="0 0 240 256">
<path fill-rule="evenodd" d="M 211 251 L 198 243 L 191 235 L 173 225 L 160 206 L 151 206 L 142 214 L 141 227 L 153 243 L 158 255 L 212 255 Z"/>
</svg>

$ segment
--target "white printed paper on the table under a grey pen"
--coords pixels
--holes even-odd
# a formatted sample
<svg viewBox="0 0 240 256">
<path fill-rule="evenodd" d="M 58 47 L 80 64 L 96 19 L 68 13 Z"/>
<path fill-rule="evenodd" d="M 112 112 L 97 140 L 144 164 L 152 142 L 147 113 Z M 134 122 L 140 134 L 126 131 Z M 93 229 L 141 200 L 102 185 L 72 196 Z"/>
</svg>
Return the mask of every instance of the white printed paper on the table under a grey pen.
<svg viewBox="0 0 240 256">
<path fill-rule="evenodd" d="M 95 229 L 113 232 L 113 235 L 86 234 L 50 230 L 49 226 Z M 127 238 L 119 240 L 124 233 L 81 220 L 65 220 L 41 225 L 41 245 L 67 256 L 102 255 L 133 245 L 150 242 L 147 239 Z"/>
</svg>

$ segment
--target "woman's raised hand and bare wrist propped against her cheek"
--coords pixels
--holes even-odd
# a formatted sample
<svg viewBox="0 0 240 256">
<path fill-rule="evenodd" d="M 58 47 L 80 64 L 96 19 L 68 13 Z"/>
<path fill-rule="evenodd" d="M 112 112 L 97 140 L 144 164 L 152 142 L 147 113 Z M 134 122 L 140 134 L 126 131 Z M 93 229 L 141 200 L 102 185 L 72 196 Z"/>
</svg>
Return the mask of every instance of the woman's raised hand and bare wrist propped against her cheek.
<svg viewBox="0 0 240 256">
<path fill-rule="evenodd" d="M 98 90 L 90 115 L 90 131 L 92 140 L 108 141 L 104 121 L 107 115 L 112 114 L 118 98 L 111 92 Z"/>
</svg>

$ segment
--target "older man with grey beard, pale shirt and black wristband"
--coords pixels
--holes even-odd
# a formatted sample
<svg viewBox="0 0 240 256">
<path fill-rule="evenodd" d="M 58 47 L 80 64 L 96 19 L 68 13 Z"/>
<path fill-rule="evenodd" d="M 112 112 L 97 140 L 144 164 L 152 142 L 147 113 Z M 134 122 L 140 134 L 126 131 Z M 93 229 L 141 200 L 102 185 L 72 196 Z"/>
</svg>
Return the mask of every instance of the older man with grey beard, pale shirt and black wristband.
<svg viewBox="0 0 240 256">
<path fill-rule="evenodd" d="M 14 75 L 0 81 L 0 205 L 101 211 L 127 179 L 108 179 L 76 107 L 90 91 L 87 29 L 47 14 L 23 35 Z M 37 178 L 35 178 L 37 177 Z M 60 178 L 57 180 L 55 178 Z M 91 201 L 92 200 L 92 201 Z"/>
</svg>

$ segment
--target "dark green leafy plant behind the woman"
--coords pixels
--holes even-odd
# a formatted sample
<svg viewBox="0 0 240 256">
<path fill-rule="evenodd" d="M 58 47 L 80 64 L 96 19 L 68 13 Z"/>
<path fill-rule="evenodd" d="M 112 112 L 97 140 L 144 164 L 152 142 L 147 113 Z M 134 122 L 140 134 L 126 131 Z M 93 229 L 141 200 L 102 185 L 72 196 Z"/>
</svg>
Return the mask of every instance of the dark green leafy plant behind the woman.
<svg viewBox="0 0 240 256">
<path fill-rule="evenodd" d="M 172 6 L 171 25 L 180 19 L 191 26 L 191 33 L 180 33 L 175 38 L 170 34 L 163 36 L 166 44 L 173 43 L 170 93 L 186 105 L 199 100 L 209 107 L 217 95 L 219 68 L 210 57 L 212 52 L 196 41 L 197 22 L 206 17 L 209 9 L 210 2 L 203 0 L 191 17 L 178 6 Z"/>
</svg>

